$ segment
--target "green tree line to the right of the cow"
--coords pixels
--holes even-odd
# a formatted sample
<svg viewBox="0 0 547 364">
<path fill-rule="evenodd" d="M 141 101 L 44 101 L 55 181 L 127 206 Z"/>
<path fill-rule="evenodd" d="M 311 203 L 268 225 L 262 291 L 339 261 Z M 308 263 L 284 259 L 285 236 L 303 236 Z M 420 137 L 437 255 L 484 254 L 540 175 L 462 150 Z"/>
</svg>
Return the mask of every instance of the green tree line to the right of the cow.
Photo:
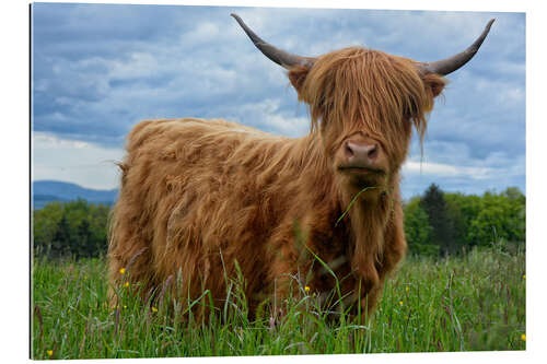
<svg viewBox="0 0 547 364">
<path fill-rule="evenodd" d="M 443 192 L 432 184 L 404 209 L 414 255 L 458 255 L 492 245 L 513 251 L 525 248 L 526 197 L 516 187 L 476 196 Z"/>
</svg>

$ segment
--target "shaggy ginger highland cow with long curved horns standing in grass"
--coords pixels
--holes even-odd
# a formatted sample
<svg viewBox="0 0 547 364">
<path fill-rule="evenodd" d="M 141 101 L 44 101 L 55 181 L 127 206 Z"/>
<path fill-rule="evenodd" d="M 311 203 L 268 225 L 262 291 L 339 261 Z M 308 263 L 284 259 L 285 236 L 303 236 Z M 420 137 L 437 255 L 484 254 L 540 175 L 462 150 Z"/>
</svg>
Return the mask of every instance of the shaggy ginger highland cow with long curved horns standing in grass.
<svg viewBox="0 0 547 364">
<path fill-rule="evenodd" d="M 240 271 L 251 313 L 296 280 L 318 295 L 338 284 L 370 314 L 407 249 L 399 178 L 412 126 L 421 143 L 443 75 L 472 59 L 493 20 L 465 51 L 417 62 L 362 47 L 295 56 L 232 15 L 288 70 L 311 131 L 291 139 L 196 118 L 137 125 L 110 222 L 112 285 L 123 268 L 143 294 L 178 274 L 191 298 L 209 290 L 222 306 L 225 278 Z"/>
</svg>

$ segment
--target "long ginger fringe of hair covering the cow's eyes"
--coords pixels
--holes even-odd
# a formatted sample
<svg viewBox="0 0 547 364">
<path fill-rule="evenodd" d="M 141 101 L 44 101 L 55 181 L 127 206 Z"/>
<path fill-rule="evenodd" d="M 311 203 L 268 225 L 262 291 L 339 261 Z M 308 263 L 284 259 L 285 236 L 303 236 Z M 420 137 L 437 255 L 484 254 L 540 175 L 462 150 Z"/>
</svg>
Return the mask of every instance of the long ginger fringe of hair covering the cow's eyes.
<svg viewBox="0 0 547 364">
<path fill-rule="evenodd" d="M 310 105 L 312 129 L 329 130 L 325 143 L 330 152 L 352 131 L 364 129 L 401 163 L 410 138 L 408 121 L 421 144 L 434 93 L 445 82 L 438 75 L 422 79 L 410 59 L 349 47 L 322 56 L 299 97 Z"/>
</svg>

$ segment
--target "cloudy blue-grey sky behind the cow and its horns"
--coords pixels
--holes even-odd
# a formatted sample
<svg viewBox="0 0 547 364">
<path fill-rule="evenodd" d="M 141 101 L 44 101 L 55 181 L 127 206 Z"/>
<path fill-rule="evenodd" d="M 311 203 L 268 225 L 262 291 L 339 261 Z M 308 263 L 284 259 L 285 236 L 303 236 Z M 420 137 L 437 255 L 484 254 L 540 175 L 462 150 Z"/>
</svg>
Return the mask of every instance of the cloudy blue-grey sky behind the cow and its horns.
<svg viewBox="0 0 547 364">
<path fill-rule="evenodd" d="M 230 16 L 302 56 L 364 46 L 419 61 L 469 46 L 447 75 L 423 142 L 403 166 L 404 198 L 435 183 L 480 195 L 526 185 L 526 16 L 523 12 L 34 3 L 32 179 L 117 188 L 114 161 L 143 119 L 222 117 L 288 137 L 310 130 L 286 71 Z"/>
</svg>

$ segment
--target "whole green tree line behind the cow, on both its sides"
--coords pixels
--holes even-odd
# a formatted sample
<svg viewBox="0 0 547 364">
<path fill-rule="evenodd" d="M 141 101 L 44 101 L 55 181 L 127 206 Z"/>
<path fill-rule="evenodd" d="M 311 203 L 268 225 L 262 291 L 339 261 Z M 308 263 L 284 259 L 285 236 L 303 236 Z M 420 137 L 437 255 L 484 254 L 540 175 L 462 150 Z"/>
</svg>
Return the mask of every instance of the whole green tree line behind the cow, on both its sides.
<svg viewBox="0 0 547 364">
<path fill-rule="evenodd" d="M 526 198 L 515 187 L 482 196 L 443 192 L 431 185 L 404 204 L 409 253 L 417 256 L 459 255 L 474 247 L 503 243 L 523 249 Z M 79 199 L 50 202 L 33 211 L 34 255 L 48 258 L 104 257 L 110 208 Z"/>
</svg>

